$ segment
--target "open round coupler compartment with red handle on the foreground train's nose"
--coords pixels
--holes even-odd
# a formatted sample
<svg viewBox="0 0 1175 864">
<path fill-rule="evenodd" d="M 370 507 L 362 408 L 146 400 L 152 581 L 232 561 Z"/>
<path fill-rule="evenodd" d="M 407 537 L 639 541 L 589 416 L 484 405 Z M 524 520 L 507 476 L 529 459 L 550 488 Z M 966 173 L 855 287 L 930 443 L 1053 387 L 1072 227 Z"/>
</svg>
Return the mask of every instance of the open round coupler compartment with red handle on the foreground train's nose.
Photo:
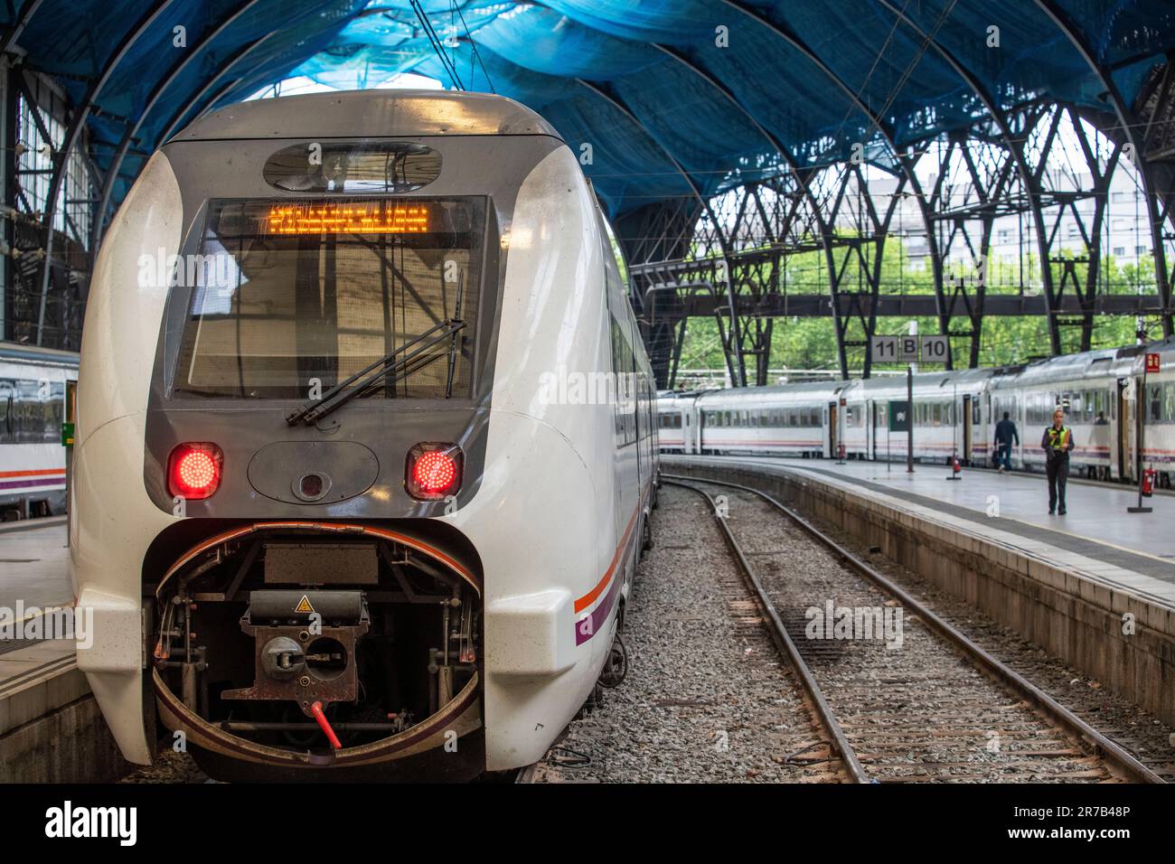
<svg viewBox="0 0 1175 864">
<path fill-rule="evenodd" d="M 270 522 L 184 550 L 155 592 L 164 725 L 221 776 L 222 763 L 289 776 L 458 752 L 482 722 L 482 604 L 452 545 L 385 527 Z M 449 771 L 484 768 L 478 745 L 465 751 Z"/>
</svg>

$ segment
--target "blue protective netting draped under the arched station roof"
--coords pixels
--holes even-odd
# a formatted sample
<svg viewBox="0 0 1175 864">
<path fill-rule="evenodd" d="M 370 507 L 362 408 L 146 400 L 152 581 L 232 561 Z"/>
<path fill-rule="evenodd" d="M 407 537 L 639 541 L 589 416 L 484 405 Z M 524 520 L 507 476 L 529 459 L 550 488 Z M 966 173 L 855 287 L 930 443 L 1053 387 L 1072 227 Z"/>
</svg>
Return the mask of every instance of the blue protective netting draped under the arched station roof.
<svg viewBox="0 0 1175 864">
<path fill-rule="evenodd" d="M 0 9 L 19 19 L 25 2 Z M 1175 48 L 1171 0 L 1052 0 L 1130 102 Z M 931 34 L 1005 108 L 1045 96 L 1106 110 L 1104 87 L 1036 0 L 423 0 L 448 63 L 408 0 L 45 0 L 19 46 L 82 100 L 122 59 L 89 118 L 106 169 L 139 122 L 114 202 L 168 130 L 291 74 L 341 89 L 402 72 L 489 91 L 542 113 L 577 150 L 612 215 L 966 126 L 975 91 Z M 127 34 L 161 14 L 129 46 Z M 242 8 L 244 9 L 242 12 Z M 902 22 L 894 9 L 908 16 Z M 209 38 L 230 15 L 231 25 Z M 765 20 L 757 20 L 765 19 Z M 187 47 L 175 47 L 182 25 Z M 1000 45 L 988 45 L 991 26 Z M 725 43 L 718 45 L 719 32 Z M 793 45 L 810 51 L 817 62 Z M 186 51 L 199 54 L 143 115 Z M 472 51 L 477 47 L 477 54 Z M 826 68 L 821 68 L 820 65 Z M 456 79 L 456 80 L 455 80 Z M 684 176 L 682 172 L 687 176 Z"/>
</svg>

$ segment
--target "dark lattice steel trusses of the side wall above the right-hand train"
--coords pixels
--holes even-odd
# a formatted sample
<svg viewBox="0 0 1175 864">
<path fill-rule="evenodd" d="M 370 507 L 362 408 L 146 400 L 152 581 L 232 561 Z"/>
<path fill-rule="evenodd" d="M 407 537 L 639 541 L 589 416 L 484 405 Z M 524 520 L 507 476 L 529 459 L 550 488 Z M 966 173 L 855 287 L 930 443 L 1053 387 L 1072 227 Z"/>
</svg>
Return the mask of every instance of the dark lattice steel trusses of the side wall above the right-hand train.
<svg viewBox="0 0 1175 864">
<path fill-rule="evenodd" d="M 1164 86 L 1162 79 L 1156 86 Z M 1170 110 L 1162 99 L 1156 105 Z M 739 343 L 744 360 L 754 357 L 753 377 L 743 380 L 765 383 L 772 319 L 779 316 L 832 317 L 842 374 L 854 367 L 866 375 L 872 360 L 867 340 L 877 333 L 880 317 L 935 317 L 956 349 L 960 342 L 966 344 L 966 363 L 972 367 L 980 362 L 987 315 L 1043 316 L 1055 354 L 1088 350 L 1099 315 L 1157 315 L 1166 322 L 1170 300 L 1161 290 L 1157 296 L 1106 293 L 1101 268 L 1107 255 L 1109 187 L 1127 142 L 1124 136 L 1115 140 L 1095 134 L 1094 128 L 1104 128 L 1104 118 L 1100 119 L 1103 122 L 1097 120 L 1070 105 L 1040 101 L 1001 112 L 998 122 L 992 116 L 979 118 L 969 129 L 926 141 L 915 153 L 906 154 L 907 159 L 934 160 L 934 185 L 919 193 L 902 175 L 893 176 L 878 192 L 865 167 L 851 162 L 803 173 L 801 182 L 811 195 L 788 188 L 797 181 L 787 175 L 728 193 L 713 207 L 717 221 L 710 216 L 698 220 L 692 256 L 630 257 L 634 294 L 644 301 L 640 309 L 646 331 L 657 329 L 662 341 L 664 334 L 672 333 L 679 341 L 685 317 L 734 320 L 744 334 Z M 1156 119 L 1154 126 L 1159 123 Z M 1076 153 L 1062 147 L 1062 125 L 1068 139 L 1076 141 Z M 1159 146 L 1166 134 L 1163 126 L 1147 140 Z M 1141 174 L 1137 172 L 1140 182 Z M 887 296 L 894 286 L 882 283 L 886 240 L 895 233 L 895 213 L 904 197 L 916 197 L 925 208 L 933 239 L 927 255 L 944 262 L 932 274 L 932 294 Z M 993 226 L 1007 215 L 1022 216 L 1022 256 L 1030 263 L 1019 284 L 1002 286 L 993 295 L 986 279 Z M 1171 216 L 1170 200 L 1160 197 L 1154 219 L 1163 225 Z M 1076 226 L 1077 236 L 1060 236 L 1066 220 Z M 909 236 L 908 232 L 897 233 Z M 710 255 L 724 234 L 730 253 L 725 259 Z M 1067 249 L 1062 250 L 1062 241 Z M 803 293 L 788 290 L 788 259 L 814 250 L 828 257 L 819 293 L 811 284 Z M 718 303 L 714 297 L 727 276 L 736 299 Z M 1014 293 L 1009 295 L 1009 290 Z M 656 297 L 656 302 L 646 297 Z M 724 347 L 727 367 L 737 368 L 737 348 L 730 340 L 724 340 Z M 659 356 L 676 359 L 680 351 L 678 342 L 658 344 Z M 850 357 L 852 351 L 855 354 Z M 676 361 L 663 362 L 654 370 L 659 386 L 672 386 Z M 731 380 L 736 384 L 743 381 L 737 375 Z"/>
</svg>

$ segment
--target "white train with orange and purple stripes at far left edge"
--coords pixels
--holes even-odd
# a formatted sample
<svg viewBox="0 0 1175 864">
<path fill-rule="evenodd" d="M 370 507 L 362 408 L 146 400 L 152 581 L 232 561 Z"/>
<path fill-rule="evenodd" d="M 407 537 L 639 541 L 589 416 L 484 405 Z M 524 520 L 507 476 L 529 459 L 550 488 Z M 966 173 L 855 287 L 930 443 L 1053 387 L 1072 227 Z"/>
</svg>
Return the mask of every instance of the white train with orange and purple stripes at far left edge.
<svg viewBox="0 0 1175 864">
<path fill-rule="evenodd" d="M 78 355 L 0 342 L 0 514 L 51 516 L 66 510 L 67 400 Z"/>
</svg>

